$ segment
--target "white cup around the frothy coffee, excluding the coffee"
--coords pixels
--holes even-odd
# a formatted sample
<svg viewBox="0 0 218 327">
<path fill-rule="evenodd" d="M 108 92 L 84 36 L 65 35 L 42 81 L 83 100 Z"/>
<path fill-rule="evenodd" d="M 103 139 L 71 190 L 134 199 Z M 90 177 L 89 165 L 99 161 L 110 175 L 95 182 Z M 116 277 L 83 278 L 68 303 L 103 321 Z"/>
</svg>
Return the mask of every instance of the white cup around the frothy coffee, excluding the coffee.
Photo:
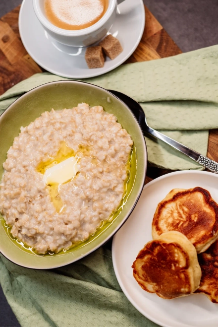
<svg viewBox="0 0 218 327">
<path fill-rule="evenodd" d="M 109 31 L 116 17 L 116 7 L 124 0 L 109 0 L 104 16 L 92 26 L 80 30 L 65 30 L 53 25 L 46 16 L 44 0 L 33 0 L 37 18 L 48 34 L 57 42 L 72 47 L 87 47 L 101 40 Z"/>
</svg>

